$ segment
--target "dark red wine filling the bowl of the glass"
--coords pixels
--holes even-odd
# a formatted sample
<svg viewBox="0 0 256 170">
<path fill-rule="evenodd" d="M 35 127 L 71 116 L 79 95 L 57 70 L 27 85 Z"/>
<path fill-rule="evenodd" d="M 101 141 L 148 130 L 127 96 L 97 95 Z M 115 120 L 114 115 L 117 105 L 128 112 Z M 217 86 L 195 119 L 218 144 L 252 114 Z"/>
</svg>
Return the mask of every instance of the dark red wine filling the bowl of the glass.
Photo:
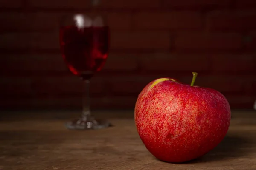
<svg viewBox="0 0 256 170">
<path fill-rule="evenodd" d="M 70 71 L 83 80 L 100 71 L 108 57 L 108 26 L 60 29 L 61 53 Z"/>
</svg>

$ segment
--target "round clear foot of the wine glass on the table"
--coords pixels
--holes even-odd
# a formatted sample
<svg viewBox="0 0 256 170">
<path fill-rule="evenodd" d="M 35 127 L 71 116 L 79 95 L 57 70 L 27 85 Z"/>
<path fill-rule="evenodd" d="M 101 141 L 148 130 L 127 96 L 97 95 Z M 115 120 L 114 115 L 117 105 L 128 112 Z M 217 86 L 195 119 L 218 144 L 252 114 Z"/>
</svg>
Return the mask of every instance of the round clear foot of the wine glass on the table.
<svg viewBox="0 0 256 170">
<path fill-rule="evenodd" d="M 103 129 L 111 127 L 111 123 L 106 120 L 93 119 L 88 117 L 75 119 L 73 121 L 67 122 L 65 124 L 67 129 L 76 129 L 76 130 L 91 130 L 91 129 Z"/>
</svg>

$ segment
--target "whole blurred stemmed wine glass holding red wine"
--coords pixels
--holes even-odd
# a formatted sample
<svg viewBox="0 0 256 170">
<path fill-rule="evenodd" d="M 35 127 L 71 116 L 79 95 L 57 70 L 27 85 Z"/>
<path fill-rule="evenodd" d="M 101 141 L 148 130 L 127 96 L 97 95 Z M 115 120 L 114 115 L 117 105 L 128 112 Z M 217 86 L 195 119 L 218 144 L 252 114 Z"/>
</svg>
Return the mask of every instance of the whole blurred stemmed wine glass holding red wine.
<svg viewBox="0 0 256 170">
<path fill-rule="evenodd" d="M 109 27 L 99 15 L 73 14 L 64 17 L 59 32 L 61 54 L 69 70 L 84 82 L 81 117 L 66 123 L 68 129 L 101 129 L 111 126 L 95 119 L 90 111 L 90 79 L 101 71 L 108 58 Z"/>
</svg>

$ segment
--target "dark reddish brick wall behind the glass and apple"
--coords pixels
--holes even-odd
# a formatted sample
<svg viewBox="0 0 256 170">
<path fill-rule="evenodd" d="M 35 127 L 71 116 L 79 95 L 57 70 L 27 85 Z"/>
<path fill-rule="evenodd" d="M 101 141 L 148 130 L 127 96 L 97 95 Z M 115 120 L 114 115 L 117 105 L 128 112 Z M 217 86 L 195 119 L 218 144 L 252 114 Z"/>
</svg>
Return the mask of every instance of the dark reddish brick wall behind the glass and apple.
<svg viewBox="0 0 256 170">
<path fill-rule="evenodd" d="M 61 58 L 63 14 L 88 0 L 0 1 L 0 107 L 79 108 L 81 81 Z M 232 108 L 256 99 L 256 0 L 102 0 L 111 27 L 105 68 L 91 79 L 92 107 L 134 108 L 151 80 L 215 88 Z"/>
</svg>

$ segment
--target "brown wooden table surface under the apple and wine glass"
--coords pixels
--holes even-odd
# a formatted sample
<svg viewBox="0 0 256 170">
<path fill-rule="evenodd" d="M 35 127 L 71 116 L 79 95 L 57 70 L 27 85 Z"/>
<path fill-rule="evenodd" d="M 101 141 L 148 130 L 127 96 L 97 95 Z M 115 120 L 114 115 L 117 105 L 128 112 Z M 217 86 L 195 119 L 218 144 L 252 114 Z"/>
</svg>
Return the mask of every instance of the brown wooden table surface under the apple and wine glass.
<svg viewBox="0 0 256 170">
<path fill-rule="evenodd" d="M 221 144 L 184 164 L 154 158 L 137 134 L 132 112 L 95 113 L 114 125 L 101 130 L 67 130 L 66 118 L 54 111 L 33 115 L 1 113 L 1 170 L 256 170 L 255 111 L 232 112 Z"/>
</svg>

